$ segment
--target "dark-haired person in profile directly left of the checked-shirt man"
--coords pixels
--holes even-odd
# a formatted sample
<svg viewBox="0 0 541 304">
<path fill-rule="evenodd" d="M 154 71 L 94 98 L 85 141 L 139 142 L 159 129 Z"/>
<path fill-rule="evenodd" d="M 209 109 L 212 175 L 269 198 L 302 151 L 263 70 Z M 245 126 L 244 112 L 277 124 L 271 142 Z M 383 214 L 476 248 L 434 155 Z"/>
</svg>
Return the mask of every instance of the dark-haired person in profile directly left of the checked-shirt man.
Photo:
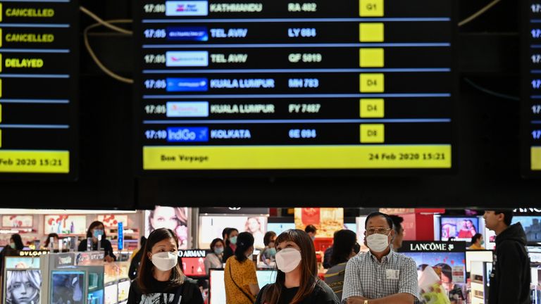
<svg viewBox="0 0 541 304">
<path fill-rule="evenodd" d="M 339 299 L 342 299 L 347 261 L 357 255 L 360 250 L 361 246 L 357 243 L 357 234 L 355 232 L 349 230 L 335 232 L 330 257 L 330 263 L 334 266 L 330 267 L 330 270 L 325 274 L 325 283 L 336 293 Z"/>
</svg>

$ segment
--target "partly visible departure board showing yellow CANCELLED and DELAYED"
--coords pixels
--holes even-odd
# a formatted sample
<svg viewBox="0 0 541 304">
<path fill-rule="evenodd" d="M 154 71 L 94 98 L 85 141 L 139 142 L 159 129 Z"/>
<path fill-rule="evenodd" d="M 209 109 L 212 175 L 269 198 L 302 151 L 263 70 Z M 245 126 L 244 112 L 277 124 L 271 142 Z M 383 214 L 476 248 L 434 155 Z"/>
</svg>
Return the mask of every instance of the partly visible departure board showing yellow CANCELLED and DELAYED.
<svg viewBox="0 0 541 304">
<path fill-rule="evenodd" d="M 0 0 L 0 178 L 73 179 L 78 4 Z"/>
</svg>

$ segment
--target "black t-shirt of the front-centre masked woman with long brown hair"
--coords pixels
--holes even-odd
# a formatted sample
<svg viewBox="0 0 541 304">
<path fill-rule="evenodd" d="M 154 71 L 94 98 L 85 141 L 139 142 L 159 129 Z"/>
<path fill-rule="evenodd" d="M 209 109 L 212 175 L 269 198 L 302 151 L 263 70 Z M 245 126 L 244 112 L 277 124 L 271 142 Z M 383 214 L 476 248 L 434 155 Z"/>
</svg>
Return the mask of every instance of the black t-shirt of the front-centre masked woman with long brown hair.
<svg viewBox="0 0 541 304">
<path fill-rule="evenodd" d="M 263 300 L 263 293 L 268 288 L 269 285 L 263 287 L 259 294 L 257 295 L 256 304 L 265 304 Z M 287 289 L 282 288 L 282 298 L 278 304 L 289 304 L 299 291 L 299 287 L 293 287 Z M 336 294 L 332 289 L 330 289 L 325 282 L 318 280 L 316 287 L 310 293 L 310 296 L 304 298 L 301 304 L 340 304 L 340 300 L 337 298 Z"/>
</svg>

